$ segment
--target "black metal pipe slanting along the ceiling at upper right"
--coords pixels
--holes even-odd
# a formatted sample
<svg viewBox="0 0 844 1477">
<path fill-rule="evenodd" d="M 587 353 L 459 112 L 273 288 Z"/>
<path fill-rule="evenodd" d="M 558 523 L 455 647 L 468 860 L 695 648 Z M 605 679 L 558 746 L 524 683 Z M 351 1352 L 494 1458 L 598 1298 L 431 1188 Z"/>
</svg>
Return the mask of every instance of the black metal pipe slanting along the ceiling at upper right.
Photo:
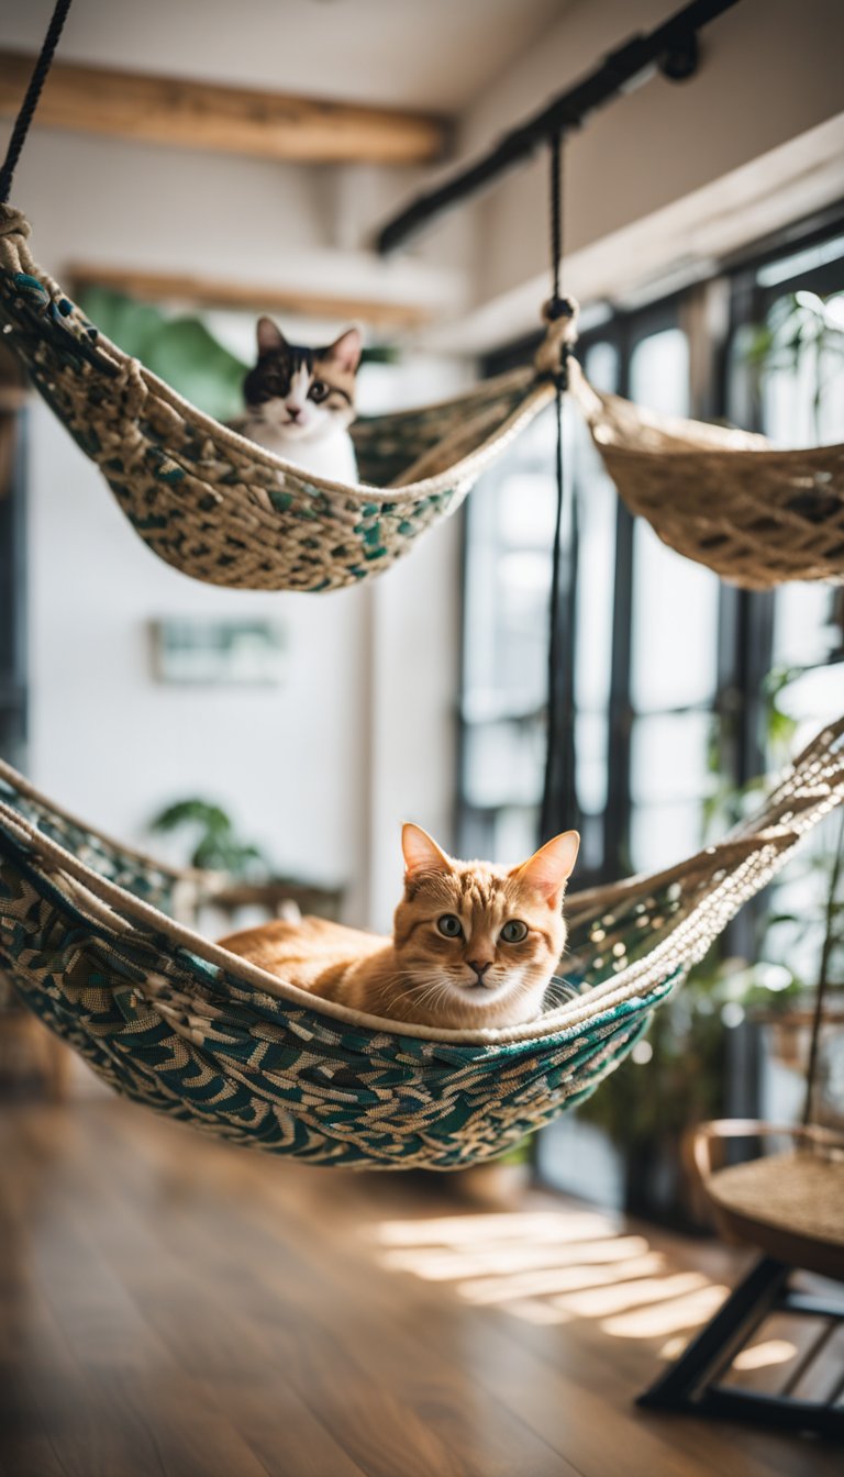
<svg viewBox="0 0 844 1477">
<path fill-rule="evenodd" d="M 541 112 L 507 133 L 489 154 L 476 164 L 460 170 L 443 185 L 417 195 L 405 210 L 393 216 L 378 232 L 375 245 L 381 256 L 395 251 L 398 245 L 415 235 L 421 226 L 440 216 L 451 205 L 476 195 L 506 170 L 529 158 L 534 151 L 547 143 L 554 133 L 578 128 L 590 112 L 605 102 L 612 102 L 641 74 L 662 64 L 665 75 L 680 80 L 693 72 L 689 58 L 695 56 L 693 40 L 702 25 L 730 10 L 739 0 L 693 0 L 662 25 L 646 35 L 633 35 L 610 55 L 588 77 L 554 97 Z M 673 66 L 673 58 L 684 65 Z"/>
</svg>

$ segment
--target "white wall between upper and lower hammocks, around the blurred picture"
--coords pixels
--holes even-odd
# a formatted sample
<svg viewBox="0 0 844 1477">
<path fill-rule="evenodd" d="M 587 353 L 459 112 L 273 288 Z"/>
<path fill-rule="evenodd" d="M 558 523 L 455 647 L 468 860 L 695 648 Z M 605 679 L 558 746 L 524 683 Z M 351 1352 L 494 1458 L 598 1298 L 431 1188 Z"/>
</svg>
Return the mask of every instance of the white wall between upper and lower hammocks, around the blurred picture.
<svg viewBox="0 0 844 1477">
<path fill-rule="evenodd" d="M 389 923 L 406 815 L 448 839 L 457 524 L 378 585 L 325 595 L 200 585 L 132 533 L 40 402 L 30 412 L 31 777 L 127 840 L 171 799 L 231 808 L 284 871 L 349 885 Z M 278 688 L 155 681 L 149 620 L 269 616 Z"/>
</svg>

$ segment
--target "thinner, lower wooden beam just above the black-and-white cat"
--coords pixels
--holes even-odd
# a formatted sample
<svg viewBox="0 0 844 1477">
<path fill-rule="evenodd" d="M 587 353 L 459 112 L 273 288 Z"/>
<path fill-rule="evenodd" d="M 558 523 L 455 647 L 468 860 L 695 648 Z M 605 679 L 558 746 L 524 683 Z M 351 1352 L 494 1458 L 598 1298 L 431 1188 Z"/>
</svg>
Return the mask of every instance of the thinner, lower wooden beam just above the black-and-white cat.
<svg viewBox="0 0 844 1477">
<path fill-rule="evenodd" d="M 242 312 L 293 313 L 324 318 L 330 322 L 358 322 L 383 331 L 421 328 L 433 318 L 430 307 L 418 303 L 390 303 L 377 298 L 331 297 L 325 292 L 253 285 L 250 282 L 142 272 L 132 267 L 71 264 L 64 273 L 71 295 L 83 288 L 111 288 L 145 303 L 183 303 L 189 307 L 231 307 Z"/>
</svg>

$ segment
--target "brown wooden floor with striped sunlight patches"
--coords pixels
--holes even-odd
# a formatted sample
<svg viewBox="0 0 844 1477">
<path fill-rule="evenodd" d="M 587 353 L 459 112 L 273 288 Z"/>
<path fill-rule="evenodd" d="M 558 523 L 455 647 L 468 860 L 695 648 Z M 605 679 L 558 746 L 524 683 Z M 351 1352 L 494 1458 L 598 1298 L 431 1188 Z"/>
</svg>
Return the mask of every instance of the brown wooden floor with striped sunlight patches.
<svg viewBox="0 0 844 1477">
<path fill-rule="evenodd" d="M 442 1179 L 229 1149 L 118 1100 L 0 1106 L 0 1474 L 840 1473 L 809 1440 L 633 1405 L 741 1266 L 551 1196 L 480 1213 Z"/>
</svg>

